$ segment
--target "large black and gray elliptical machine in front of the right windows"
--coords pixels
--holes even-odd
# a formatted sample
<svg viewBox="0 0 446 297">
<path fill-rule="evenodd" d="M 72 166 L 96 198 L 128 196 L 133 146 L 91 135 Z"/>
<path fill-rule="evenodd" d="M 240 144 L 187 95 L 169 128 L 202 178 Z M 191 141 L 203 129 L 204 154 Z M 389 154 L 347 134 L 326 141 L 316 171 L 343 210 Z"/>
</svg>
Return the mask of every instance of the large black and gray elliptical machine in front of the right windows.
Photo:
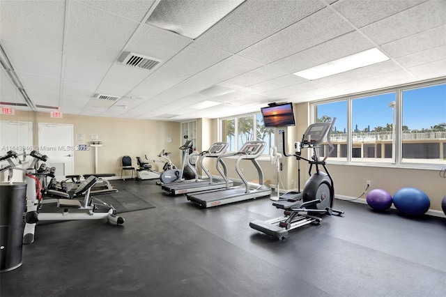
<svg viewBox="0 0 446 297">
<path fill-rule="evenodd" d="M 278 201 L 272 203 L 277 208 L 284 209 L 284 215 L 279 218 L 262 221 L 254 220 L 249 222 L 249 227 L 261 231 L 270 236 L 275 236 L 279 239 L 288 237 L 289 231 L 306 224 L 314 223 L 320 224 L 322 219 L 317 215 L 336 214 L 342 215 L 344 211 L 332 208 L 334 200 L 334 185 L 333 179 L 328 172 L 326 162 L 328 156 L 334 150 L 334 146 L 330 141 L 330 132 L 332 130 L 334 121 L 332 123 L 314 123 L 309 125 L 301 142 L 295 142 L 295 153 L 293 155 L 287 154 L 285 149 L 285 132 L 282 138 L 283 153 L 286 157 L 295 157 L 296 160 L 305 160 L 309 163 L 309 175 L 307 183 L 305 183 L 302 192 L 292 192 L 292 195 L 286 193 L 279 197 Z M 321 160 L 318 156 L 318 148 L 320 144 L 327 142 L 330 146 L 330 151 L 325 154 Z M 302 157 L 301 149 L 310 148 L 313 150 L 311 160 Z M 324 171 L 321 171 L 323 167 Z M 315 169 L 312 174 L 312 169 Z"/>
</svg>

